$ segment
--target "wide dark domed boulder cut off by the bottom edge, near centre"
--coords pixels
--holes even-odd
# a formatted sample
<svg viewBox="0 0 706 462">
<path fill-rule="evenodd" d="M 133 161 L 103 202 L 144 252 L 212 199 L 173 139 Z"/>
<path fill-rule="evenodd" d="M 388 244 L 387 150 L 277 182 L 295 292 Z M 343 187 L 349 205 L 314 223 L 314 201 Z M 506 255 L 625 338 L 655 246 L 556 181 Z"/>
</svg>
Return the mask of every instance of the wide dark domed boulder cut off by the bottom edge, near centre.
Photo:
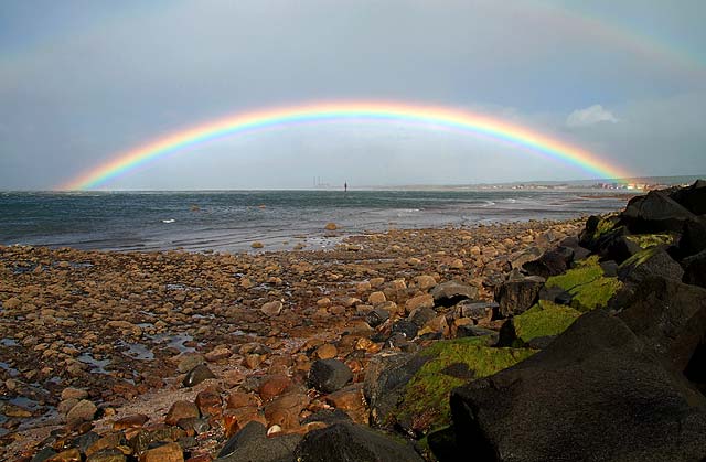
<svg viewBox="0 0 706 462">
<path fill-rule="evenodd" d="M 296 450 L 299 462 L 421 462 L 407 444 L 354 423 L 334 423 L 307 433 Z"/>
</svg>

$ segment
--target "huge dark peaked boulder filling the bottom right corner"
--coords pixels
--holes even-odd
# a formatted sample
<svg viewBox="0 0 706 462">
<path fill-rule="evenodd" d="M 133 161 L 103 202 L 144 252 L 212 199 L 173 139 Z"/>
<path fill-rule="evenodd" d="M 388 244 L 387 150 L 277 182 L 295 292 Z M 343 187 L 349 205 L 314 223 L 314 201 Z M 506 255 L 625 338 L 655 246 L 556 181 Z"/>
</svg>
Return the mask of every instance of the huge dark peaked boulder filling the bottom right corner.
<svg viewBox="0 0 706 462">
<path fill-rule="evenodd" d="M 700 460 L 704 406 L 602 310 L 533 357 L 451 395 L 456 442 L 479 461 Z"/>
</svg>

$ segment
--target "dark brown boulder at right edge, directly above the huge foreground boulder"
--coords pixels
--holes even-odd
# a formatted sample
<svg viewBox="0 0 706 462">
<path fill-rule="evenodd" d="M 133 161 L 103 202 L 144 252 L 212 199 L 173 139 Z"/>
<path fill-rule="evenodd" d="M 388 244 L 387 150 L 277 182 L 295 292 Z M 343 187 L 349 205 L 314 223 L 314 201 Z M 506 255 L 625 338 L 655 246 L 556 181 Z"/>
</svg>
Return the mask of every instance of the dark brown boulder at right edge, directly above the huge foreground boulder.
<svg viewBox="0 0 706 462">
<path fill-rule="evenodd" d="M 683 372 L 706 339 L 706 289 L 646 278 L 618 316 L 645 345 Z"/>
</svg>

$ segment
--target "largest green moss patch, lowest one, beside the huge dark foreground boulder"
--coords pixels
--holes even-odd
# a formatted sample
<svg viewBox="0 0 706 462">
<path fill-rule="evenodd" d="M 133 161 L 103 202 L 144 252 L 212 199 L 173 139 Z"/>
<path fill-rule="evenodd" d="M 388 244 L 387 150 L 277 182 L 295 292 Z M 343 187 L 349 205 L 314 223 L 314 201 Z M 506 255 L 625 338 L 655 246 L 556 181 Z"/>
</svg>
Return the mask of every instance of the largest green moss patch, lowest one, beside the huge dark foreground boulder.
<svg viewBox="0 0 706 462">
<path fill-rule="evenodd" d="M 532 356 L 535 351 L 526 348 L 494 348 L 483 346 L 483 339 L 458 339 L 437 342 L 421 354 L 435 356 L 415 374 L 406 387 L 403 401 L 394 412 L 397 421 L 411 421 L 416 431 L 449 425 L 449 395 L 469 379 L 493 375 Z M 445 372 L 450 365 L 464 364 L 470 372 L 464 378 Z"/>
</svg>

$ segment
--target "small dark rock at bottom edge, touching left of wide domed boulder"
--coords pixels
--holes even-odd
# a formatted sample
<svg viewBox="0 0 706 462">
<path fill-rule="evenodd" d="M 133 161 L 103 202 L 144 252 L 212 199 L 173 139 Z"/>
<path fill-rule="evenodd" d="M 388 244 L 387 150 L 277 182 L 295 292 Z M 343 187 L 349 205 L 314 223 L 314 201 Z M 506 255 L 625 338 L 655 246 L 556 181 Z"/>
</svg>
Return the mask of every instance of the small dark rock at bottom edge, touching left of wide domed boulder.
<svg viewBox="0 0 706 462">
<path fill-rule="evenodd" d="M 296 433 L 267 438 L 265 426 L 252 421 L 226 441 L 214 462 L 293 462 L 300 441 Z"/>
</svg>

